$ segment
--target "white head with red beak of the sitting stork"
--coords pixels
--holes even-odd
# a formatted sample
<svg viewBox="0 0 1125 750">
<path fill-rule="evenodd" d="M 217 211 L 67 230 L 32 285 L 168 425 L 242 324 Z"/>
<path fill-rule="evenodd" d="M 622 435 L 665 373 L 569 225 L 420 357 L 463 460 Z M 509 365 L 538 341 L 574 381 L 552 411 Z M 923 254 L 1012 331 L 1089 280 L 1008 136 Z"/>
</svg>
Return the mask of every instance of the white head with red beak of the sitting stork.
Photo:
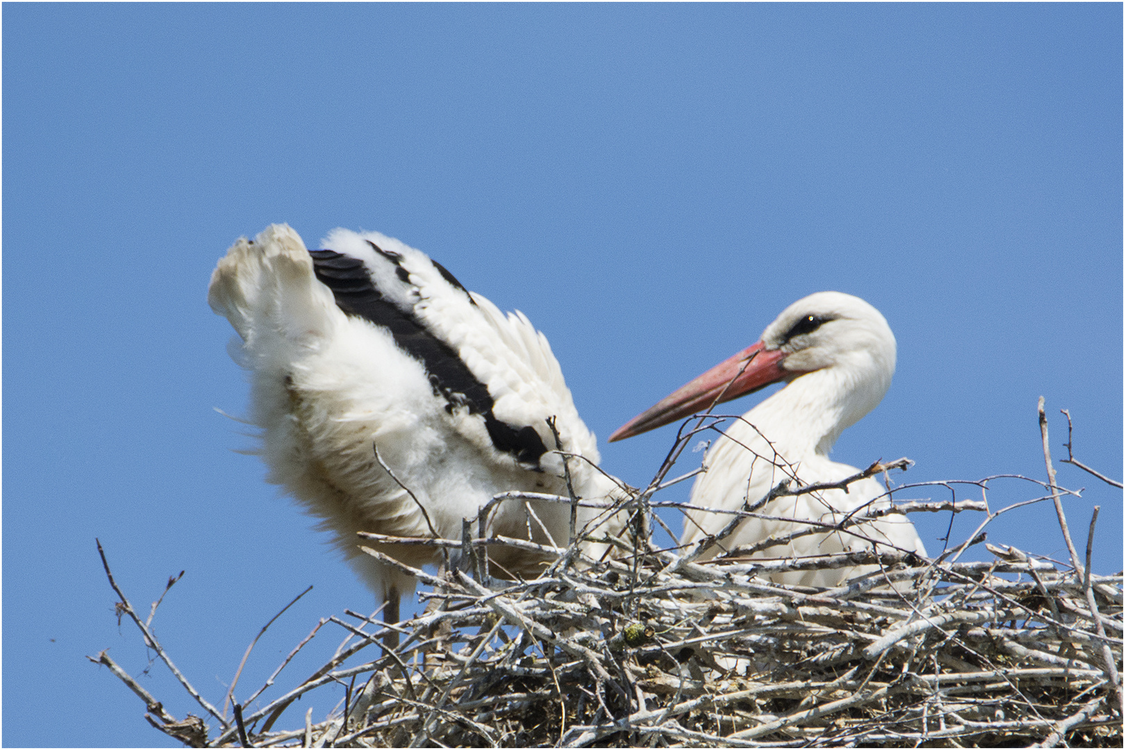
<svg viewBox="0 0 1125 750">
<path fill-rule="evenodd" d="M 882 400 L 894 374 L 896 344 L 886 319 L 858 297 L 819 291 L 786 307 L 762 340 L 664 398 L 610 435 L 624 440 L 770 383 L 810 372 L 827 377 L 821 395 L 840 410 L 839 428 Z"/>
</svg>

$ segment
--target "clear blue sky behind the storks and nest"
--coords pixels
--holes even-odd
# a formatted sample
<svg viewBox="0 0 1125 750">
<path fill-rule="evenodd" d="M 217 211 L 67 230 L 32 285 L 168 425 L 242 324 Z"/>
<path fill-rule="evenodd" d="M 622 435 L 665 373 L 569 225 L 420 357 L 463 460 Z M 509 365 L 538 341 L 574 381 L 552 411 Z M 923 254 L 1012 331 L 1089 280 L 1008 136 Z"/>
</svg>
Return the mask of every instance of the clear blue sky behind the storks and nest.
<svg viewBox="0 0 1125 750">
<path fill-rule="evenodd" d="M 837 289 L 899 341 L 837 460 L 1044 479 L 1042 395 L 1056 460 L 1068 408 L 1078 458 L 1122 476 L 1119 4 L 7 4 L 3 94 L 4 744 L 177 747 L 84 659 L 107 648 L 197 712 L 143 674 L 96 536 L 140 608 L 187 571 L 156 632 L 213 702 L 306 586 L 242 685 L 372 608 L 215 412 L 248 389 L 208 275 L 272 222 L 380 231 L 523 310 L 603 441 Z M 603 464 L 642 484 L 670 435 Z M 1120 493 L 1059 477 L 1119 570 Z M 930 550 L 948 522 L 916 518 Z M 989 532 L 1065 558 L 1048 504 Z"/>
</svg>

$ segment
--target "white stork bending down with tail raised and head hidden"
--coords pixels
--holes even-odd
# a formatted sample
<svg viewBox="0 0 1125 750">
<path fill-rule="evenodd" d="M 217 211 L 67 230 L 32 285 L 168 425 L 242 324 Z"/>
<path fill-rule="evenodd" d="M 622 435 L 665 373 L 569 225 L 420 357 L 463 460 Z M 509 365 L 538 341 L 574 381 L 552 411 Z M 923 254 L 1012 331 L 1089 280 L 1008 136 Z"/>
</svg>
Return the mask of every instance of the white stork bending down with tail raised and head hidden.
<svg viewBox="0 0 1125 750">
<path fill-rule="evenodd" d="M 357 532 L 459 540 L 462 518 L 498 493 L 566 496 L 556 448 L 585 459 L 569 460 L 576 495 L 622 496 L 594 468 L 594 435 L 526 317 L 505 316 L 381 234 L 336 229 L 322 246 L 307 251 L 287 225 L 238 240 L 212 275 L 208 301 L 241 337 L 232 355 L 250 371 L 250 419 L 269 481 L 323 519 L 386 602 L 385 621 L 398 621 L 415 580 L 362 554 Z M 604 516 L 579 508 L 577 528 Z M 570 508 L 504 501 L 489 531 L 565 546 Z M 432 546 L 370 545 L 415 568 L 439 560 Z M 543 563 L 495 546 L 489 558 L 501 575 L 534 577 Z"/>
</svg>

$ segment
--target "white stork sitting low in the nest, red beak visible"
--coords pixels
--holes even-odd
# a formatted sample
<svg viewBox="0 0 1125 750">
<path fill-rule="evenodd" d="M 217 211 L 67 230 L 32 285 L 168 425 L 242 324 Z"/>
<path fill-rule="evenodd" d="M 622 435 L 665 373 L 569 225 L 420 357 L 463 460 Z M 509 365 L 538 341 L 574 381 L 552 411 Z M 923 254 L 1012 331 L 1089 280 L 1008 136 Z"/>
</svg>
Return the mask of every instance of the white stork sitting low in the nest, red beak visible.
<svg viewBox="0 0 1125 750">
<path fill-rule="evenodd" d="M 753 392 L 770 383 L 788 385 L 735 422 L 708 451 L 706 467 L 692 490 L 691 503 L 701 507 L 741 509 L 763 498 L 784 479 L 801 485 L 830 484 L 858 469 L 828 458 L 836 439 L 873 409 L 891 385 L 896 343 L 886 319 L 874 307 L 850 295 L 822 291 L 790 305 L 771 323 L 762 340 L 692 380 L 659 404 L 634 417 L 610 436 L 622 440 L 675 422 L 696 412 Z M 793 521 L 747 518 L 714 557 L 802 528 L 800 521 L 838 523 L 844 515 L 883 496 L 878 479 L 852 484 L 848 491 L 824 490 L 777 497 L 758 513 Z M 868 507 L 883 508 L 886 498 Z M 730 516 L 693 510 L 684 522 L 682 542 L 688 544 L 714 534 Z M 914 524 L 892 515 L 852 527 L 852 532 L 812 534 L 783 546 L 757 551 L 754 557 L 826 554 L 870 549 L 873 542 L 890 549 L 926 549 Z M 866 539 L 865 539 L 866 537 Z M 872 568 L 788 572 L 777 582 L 837 586 Z"/>
</svg>

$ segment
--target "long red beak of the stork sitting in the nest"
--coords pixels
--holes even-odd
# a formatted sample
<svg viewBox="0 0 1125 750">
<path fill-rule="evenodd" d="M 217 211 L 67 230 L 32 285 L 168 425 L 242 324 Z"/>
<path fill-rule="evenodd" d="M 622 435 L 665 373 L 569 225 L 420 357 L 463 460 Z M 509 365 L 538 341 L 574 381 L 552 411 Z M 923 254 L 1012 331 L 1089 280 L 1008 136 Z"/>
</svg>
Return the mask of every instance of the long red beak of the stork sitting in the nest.
<svg viewBox="0 0 1125 750">
<path fill-rule="evenodd" d="M 785 352 L 771 351 L 759 341 L 714 365 L 648 412 L 634 416 L 610 435 L 610 442 L 639 435 L 696 412 L 705 412 L 714 404 L 729 401 L 798 374 L 782 369 L 784 359 Z"/>
</svg>

